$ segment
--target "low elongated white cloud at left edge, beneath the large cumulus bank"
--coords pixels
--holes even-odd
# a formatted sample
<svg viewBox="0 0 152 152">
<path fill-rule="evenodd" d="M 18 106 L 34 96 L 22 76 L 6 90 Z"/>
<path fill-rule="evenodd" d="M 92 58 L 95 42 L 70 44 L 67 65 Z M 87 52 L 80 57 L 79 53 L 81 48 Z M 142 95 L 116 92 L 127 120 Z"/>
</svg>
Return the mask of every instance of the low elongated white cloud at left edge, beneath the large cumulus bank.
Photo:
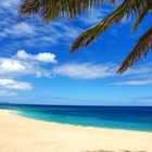
<svg viewBox="0 0 152 152">
<path fill-rule="evenodd" d="M 9 78 L 0 78 L 0 87 L 16 90 L 31 90 L 33 86 L 29 83 L 17 81 Z"/>
</svg>

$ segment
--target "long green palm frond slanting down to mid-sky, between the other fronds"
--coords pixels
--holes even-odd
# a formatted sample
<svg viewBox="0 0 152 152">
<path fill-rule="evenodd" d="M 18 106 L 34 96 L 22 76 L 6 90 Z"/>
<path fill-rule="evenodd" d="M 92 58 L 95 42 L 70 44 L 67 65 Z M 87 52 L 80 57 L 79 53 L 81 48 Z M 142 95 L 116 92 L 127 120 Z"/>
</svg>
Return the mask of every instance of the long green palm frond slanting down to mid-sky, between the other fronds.
<svg viewBox="0 0 152 152">
<path fill-rule="evenodd" d="M 131 14 L 141 14 L 149 5 L 149 0 L 124 0 L 122 4 L 111 13 L 106 18 L 101 21 L 96 26 L 87 29 L 72 43 L 71 52 L 76 51 L 81 47 L 87 47 L 101 33 L 103 33 L 112 23 L 118 24 L 124 16 Z"/>
</svg>

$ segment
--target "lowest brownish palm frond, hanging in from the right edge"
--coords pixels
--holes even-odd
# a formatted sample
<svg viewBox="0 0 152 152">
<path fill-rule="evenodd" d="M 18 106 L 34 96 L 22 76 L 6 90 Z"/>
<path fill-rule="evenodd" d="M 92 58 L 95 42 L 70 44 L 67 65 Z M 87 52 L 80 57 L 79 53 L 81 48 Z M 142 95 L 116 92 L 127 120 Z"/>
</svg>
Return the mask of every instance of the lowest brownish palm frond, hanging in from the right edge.
<svg viewBox="0 0 152 152">
<path fill-rule="evenodd" d="M 117 73 L 122 74 L 127 68 L 132 66 L 140 58 L 145 56 L 149 50 L 152 49 L 152 27 L 139 38 L 137 45 L 132 49 L 132 51 L 127 55 Z"/>
</svg>

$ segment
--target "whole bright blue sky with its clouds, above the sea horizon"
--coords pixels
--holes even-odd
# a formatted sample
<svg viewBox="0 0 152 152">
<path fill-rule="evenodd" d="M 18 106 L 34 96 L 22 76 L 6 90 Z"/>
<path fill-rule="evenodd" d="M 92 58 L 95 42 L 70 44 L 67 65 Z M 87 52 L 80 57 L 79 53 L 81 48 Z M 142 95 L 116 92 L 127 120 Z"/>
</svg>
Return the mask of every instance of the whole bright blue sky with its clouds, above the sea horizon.
<svg viewBox="0 0 152 152">
<path fill-rule="evenodd" d="M 18 18 L 20 0 L 0 4 L 0 101 L 36 104 L 152 105 L 152 52 L 122 76 L 118 65 L 150 26 L 137 33 L 132 18 L 112 25 L 88 48 L 71 54 L 71 42 L 105 17 L 113 5 L 78 18 Z"/>
</svg>

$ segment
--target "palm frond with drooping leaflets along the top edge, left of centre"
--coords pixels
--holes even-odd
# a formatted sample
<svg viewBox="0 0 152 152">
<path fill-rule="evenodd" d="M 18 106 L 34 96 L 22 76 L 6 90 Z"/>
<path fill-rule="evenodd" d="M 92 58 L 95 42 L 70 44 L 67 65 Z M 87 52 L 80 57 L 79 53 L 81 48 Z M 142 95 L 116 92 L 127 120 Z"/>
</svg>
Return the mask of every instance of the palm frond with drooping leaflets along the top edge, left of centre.
<svg viewBox="0 0 152 152">
<path fill-rule="evenodd" d="M 48 23 L 59 16 L 76 17 L 105 1 L 116 2 L 116 0 L 23 0 L 18 16 L 39 15 L 43 22 Z"/>
</svg>

